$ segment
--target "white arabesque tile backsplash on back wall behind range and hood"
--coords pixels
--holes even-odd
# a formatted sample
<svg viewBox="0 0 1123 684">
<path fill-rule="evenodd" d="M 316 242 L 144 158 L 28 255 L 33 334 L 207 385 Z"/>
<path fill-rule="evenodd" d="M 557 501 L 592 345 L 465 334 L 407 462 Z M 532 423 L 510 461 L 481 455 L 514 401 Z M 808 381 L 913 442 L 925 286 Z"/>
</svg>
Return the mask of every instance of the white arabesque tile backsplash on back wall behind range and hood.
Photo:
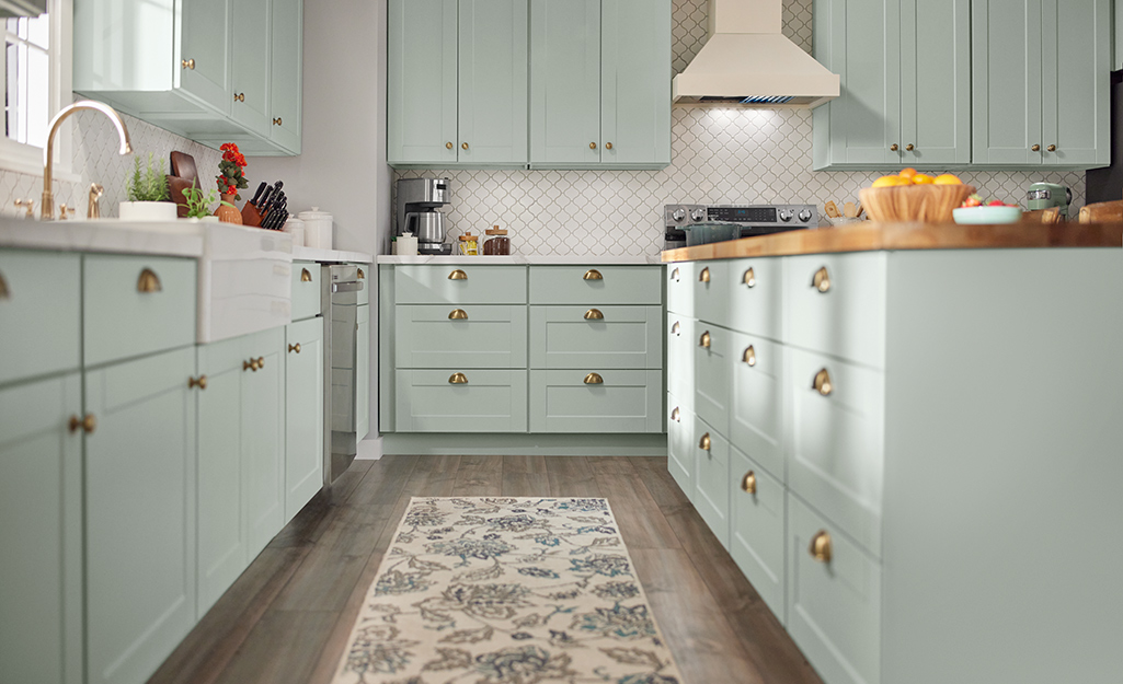
<svg viewBox="0 0 1123 684">
<path fill-rule="evenodd" d="M 812 0 L 785 0 L 784 34 L 811 50 Z M 685 68 L 706 39 L 709 0 L 675 0 L 673 66 Z M 674 109 L 672 164 L 661 170 L 403 170 L 396 178 L 453 182 L 449 239 L 499 223 L 523 255 L 652 253 L 663 244 L 663 205 L 690 203 L 857 202 L 880 173 L 811 170 L 811 112 Z M 1037 181 L 1072 188 L 1084 204 L 1084 173 L 959 174 L 988 197 L 1021 202 Z"/>
</svg>

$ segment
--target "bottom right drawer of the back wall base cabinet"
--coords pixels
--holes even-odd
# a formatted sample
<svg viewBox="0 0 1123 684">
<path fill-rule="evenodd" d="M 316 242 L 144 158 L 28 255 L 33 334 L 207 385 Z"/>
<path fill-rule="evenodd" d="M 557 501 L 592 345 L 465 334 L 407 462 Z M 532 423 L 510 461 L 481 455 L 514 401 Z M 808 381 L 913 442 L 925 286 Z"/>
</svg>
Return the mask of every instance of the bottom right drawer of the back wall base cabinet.
<svg viewBox="0 0 1123 684">
<path fill-rule="evenodd" d="M 597 377 L 600 382 L 595 381 Z M 661 433 L 663 373 L 593 368 L 532 370 L 530 432 Z"/>
</svg>

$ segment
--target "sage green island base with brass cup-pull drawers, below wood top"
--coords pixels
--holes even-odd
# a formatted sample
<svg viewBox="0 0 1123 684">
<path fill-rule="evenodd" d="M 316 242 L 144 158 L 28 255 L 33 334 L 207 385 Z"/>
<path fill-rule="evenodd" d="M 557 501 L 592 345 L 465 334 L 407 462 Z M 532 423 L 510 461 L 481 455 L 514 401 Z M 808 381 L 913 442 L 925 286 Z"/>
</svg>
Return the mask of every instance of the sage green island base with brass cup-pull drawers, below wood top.
<svg viewBox="0 0 1123 684">
<path fill-rule="evenodd" d="M 667 264 L 668 470 L 824 682 L 1119 681 L 1119 255 Z"/>
</svg>

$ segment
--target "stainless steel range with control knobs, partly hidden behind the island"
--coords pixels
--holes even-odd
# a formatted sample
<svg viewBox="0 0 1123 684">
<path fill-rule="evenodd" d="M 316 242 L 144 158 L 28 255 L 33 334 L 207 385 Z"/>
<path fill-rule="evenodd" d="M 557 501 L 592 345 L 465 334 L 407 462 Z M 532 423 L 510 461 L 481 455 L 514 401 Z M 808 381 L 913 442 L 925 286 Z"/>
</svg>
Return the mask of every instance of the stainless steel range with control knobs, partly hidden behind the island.
<svg viewBox="0 0 1123 684">
<path fill-rule="evenodd" d="M 700 223 L 740 227 L 736 237 L 767 235 L 786 230 L 819 228 L 814 204 L 667 204 L 663 207 L 666 242 L 664 249 L 686 247 L 684 229 Z"/>
</svg>

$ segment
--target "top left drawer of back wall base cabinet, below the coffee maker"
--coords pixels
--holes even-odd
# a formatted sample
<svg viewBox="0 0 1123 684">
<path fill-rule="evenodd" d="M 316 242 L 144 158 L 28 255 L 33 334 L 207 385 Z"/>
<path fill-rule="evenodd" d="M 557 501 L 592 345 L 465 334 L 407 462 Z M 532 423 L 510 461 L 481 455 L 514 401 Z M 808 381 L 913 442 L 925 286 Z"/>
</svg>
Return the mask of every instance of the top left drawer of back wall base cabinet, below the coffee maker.
<svg viewBox="0 0 1123 684">
<path fill-rule="evenodd" d="M 463 276 L 463 277 L 460 277 Z M 398 304 L 526 304 L 523 266 L 395 266 Z"/>
</svg>

